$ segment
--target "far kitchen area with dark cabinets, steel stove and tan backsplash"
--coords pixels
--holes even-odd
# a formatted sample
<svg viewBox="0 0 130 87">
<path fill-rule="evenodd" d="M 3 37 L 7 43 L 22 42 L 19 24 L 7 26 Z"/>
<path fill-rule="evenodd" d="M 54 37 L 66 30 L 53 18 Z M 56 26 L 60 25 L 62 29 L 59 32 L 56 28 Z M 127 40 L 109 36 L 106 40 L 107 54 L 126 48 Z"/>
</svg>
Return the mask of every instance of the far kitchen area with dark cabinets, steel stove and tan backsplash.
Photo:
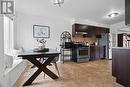
<svg viewBox="0 0 130 87">
<path fill-rule="evenodd" d="M 72 25 L 72 40 L 65 42 L 65 49 L 71 49 L 70 59 L 74 62 L 108 59 L 109 28 L 75 23 Z"/>
</svg>

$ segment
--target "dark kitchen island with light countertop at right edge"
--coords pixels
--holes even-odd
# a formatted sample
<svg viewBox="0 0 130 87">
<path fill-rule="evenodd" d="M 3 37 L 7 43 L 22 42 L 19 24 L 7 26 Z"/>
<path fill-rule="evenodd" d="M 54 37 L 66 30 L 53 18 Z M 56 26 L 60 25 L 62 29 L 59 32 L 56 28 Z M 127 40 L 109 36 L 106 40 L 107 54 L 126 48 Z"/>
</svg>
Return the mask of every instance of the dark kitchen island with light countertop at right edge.
<svg viewBox="0 0 130 87">
<path fill-rule="evenodd" d="M 112 48 L 112 75 L 117 83 L 130 87 L 130 48 Z"/>
</svg>

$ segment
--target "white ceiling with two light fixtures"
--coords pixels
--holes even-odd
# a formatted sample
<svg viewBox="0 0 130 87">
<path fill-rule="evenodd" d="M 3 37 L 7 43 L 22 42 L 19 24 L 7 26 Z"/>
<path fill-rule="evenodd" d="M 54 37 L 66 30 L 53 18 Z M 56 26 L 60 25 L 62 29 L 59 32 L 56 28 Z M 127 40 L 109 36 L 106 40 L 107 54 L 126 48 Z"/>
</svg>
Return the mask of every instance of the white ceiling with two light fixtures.
<svg viewBox="0 0 130 87">
<path fill-rule="evenodd" d="M 104 24 L 124 21 L 125 0 L 64 0 L 59 7 L 53 0 L 16 0 L 16 11 L 35 15 L 60 15 L 80 18 Z M 111 12 L 119 12 L 119 16 L 108 18 Z"/>
</svg>

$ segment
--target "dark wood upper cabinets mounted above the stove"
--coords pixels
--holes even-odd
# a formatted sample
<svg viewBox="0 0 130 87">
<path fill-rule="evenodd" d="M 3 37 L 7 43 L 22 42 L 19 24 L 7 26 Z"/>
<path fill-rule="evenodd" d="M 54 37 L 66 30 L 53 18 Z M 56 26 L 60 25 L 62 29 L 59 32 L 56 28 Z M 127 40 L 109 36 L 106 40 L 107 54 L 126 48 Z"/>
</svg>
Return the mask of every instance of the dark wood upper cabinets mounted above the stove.
<svg viewBox="0 0 130 87">
<path fill-rule="evenodd" d="M 91 35 L 101 35 L 101 33 L 109 33 L 109 28 L 90 26 L 85 24 L 73 24 L 72 25 L 72 35 L 73 37 L 77 34 L 87 34 Z"/>
</svg>

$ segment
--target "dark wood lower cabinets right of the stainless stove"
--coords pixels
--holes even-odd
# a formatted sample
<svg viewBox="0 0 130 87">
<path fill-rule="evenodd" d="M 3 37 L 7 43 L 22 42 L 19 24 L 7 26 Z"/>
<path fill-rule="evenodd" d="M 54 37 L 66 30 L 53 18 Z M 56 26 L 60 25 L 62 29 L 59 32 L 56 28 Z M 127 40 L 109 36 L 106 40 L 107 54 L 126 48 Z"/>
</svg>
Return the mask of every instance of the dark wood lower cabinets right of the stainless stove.
<svg viewBox="0 0 130 87">
<path fill-rule="evenodd" d="M 105 46 L 90 46 L 90 60 L 105 58 Z"/>
</svg>

